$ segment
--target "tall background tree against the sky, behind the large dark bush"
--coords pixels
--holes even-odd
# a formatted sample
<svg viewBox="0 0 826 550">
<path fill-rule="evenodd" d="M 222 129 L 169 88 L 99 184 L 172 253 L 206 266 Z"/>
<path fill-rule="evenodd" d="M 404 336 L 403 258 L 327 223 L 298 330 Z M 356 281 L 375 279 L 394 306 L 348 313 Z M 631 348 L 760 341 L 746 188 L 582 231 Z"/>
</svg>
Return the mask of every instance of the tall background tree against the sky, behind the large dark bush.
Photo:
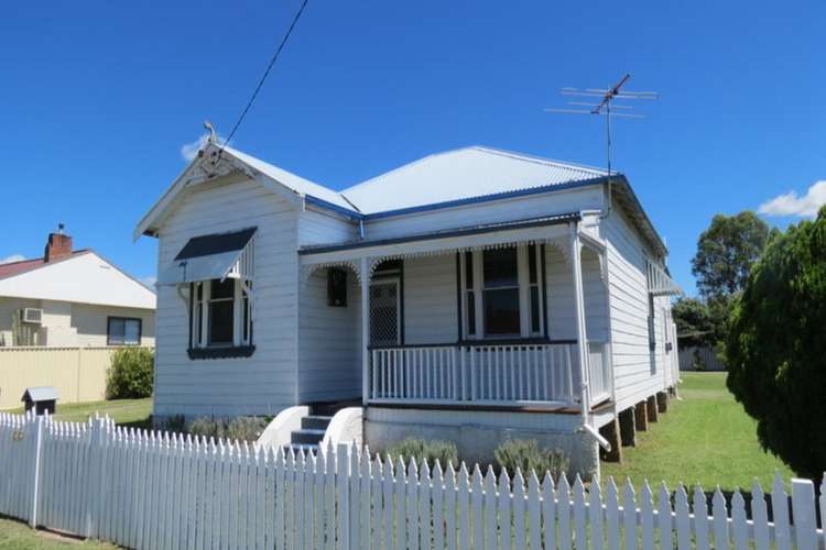
<svg viewBox="0 0 826 550">
<path fill-rule="evenodd" d="M 699 235 L 697 253 L 692 260 L 700 296 L 710 300 L 738 293 L 768 238 L 769 226 L 754 212 L 715 216 Z"/>
</svg>

